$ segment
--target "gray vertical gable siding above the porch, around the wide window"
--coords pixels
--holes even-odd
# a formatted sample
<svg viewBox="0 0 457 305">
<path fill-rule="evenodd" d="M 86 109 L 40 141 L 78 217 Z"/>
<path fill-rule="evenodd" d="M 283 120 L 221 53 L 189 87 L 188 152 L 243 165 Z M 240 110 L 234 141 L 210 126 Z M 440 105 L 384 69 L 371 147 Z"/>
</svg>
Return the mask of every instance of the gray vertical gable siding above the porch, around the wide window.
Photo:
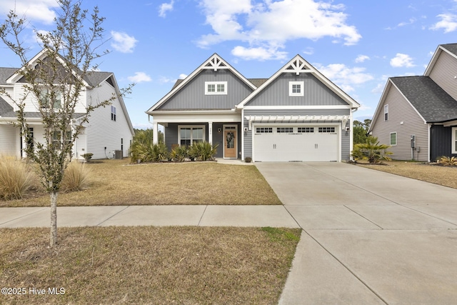
<svg viewBox="0 0 457 305">
<path fill-rule="evenodd" d="M 227 94 L 205 95 L 205 81 L 227 81 Z M 204 70 L 156 110 L 233 109 L 252 91 L 228 69 Z"/>
</svg>

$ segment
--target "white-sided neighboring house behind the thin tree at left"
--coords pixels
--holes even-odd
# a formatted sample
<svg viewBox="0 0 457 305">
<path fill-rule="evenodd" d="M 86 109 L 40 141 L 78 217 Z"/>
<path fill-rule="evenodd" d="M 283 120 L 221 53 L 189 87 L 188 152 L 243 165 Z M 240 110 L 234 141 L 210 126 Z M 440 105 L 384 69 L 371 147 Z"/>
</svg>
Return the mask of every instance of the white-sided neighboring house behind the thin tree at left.
<svg viewBox="0 0 457 305">
<path fill-rule="evenodd" d="M 46 51 L 43 50 L 31 59 L 29 64 L 45 58 Z M 24 80 L 17 74 L 18 70 L 19 68 L 0 68 L 0 87 L 16 100 L 24 94 Z M 94 71 L 88 74 L 84 81 L 86 90 L 81 94 L 75 120 L 84 114 L 88 103 L 110 99 L 112 94 L 119 96 L 119 87 L 111 72 Z M 33 134 L 35 141 L 43 141 L 44 128 L 38 107 L 39 101 L 34 96 L 30 97 L 26 103 L 25 112 L 30 126 L 29 132 Z M 17 119 L 16 110 L 17 106 L 9 97 L 0 95 L 0 155 L 14 155 L 21 158 L 26 156 L 22 151 L 26 143 L 19 128 L 11 124 Z M 112 101 L 111 106 L 101 107 L 91 112 L 89 124 L 84 124 L 84 127 L 74 143 L 74 158 L 83 159 L 81 155 L 86 153 L 94 154 L 92 159 L 113 158 L 115 151 L 122 151 L 123 156 L 128 156 L 134 129 L 120 96 Z"/>
</svg>

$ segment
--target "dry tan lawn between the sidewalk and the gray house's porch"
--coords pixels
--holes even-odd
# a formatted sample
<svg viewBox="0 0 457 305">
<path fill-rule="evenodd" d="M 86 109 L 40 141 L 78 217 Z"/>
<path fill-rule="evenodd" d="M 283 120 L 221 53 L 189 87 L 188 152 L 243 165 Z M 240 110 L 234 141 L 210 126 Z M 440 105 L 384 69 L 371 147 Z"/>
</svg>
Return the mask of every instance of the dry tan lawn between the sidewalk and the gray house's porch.
<svg viewBox="0 0 457 305">
<path fill-rule="evenodd" d="M 94 183 L 86 191 L 59 194 L 59 206 L 167 204 L 281 204 L 256 166 L 217 162 L 129 165 L 128 160 L 89 162 Z M 0 206 L 49 206 L 43 191 Z"/>
</svg>

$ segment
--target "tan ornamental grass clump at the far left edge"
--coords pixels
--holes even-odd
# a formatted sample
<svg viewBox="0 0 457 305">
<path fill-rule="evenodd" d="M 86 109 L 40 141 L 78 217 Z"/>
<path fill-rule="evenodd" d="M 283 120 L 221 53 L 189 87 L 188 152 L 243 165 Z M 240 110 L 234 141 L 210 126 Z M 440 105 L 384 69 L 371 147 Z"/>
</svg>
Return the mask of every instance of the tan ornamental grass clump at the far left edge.
<svg viewBox="0 0 457 305">
<path fill-rule="evenodd" d="M 21 199 L 31 186 L 27 164 L 11 156 L 0 156 L 0 199 Z"/>
</svg>

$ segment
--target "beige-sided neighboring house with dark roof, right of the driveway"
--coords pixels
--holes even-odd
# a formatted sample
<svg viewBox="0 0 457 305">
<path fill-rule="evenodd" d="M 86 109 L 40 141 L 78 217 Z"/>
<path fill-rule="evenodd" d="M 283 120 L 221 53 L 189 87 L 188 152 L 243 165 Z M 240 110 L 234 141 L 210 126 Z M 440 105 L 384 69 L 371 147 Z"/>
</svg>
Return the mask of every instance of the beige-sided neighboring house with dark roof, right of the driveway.
<svg viewBox="0 0 457 305">
<path fill-rule="evenodd" d="M 391 77 L 368 133 L 397 160 L 457 156 L 457 44 L 442 44 L 423 76 Z"/>
</svg>

